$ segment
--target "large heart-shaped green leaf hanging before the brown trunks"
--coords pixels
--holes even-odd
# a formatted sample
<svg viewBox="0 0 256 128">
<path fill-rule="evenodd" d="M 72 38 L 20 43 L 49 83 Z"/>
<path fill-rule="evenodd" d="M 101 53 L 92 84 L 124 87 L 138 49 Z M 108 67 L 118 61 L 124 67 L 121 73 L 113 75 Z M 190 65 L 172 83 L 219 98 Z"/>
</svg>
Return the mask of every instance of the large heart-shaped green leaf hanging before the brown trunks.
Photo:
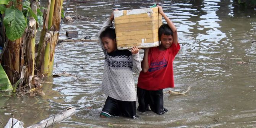
<svg viewBox="0 0 256 128">
<path fill-rule="evenodd" d="M 20 38 L 26 28 L 24 15 L 18 9 L 6 8 L 3 24 L 6 28 L 6 36 L 11 41 Z"/>
</svg>

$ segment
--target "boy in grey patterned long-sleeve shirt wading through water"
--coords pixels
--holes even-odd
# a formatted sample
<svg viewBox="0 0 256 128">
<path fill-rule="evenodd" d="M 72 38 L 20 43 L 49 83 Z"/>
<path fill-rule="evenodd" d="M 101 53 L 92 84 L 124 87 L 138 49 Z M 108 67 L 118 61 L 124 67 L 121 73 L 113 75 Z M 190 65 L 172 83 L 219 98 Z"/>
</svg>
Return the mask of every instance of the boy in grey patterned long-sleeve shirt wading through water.
<svg viewBox="0 0 256 128">
<path fill-rule="evenodd" d="M 116 10 L 115 10 L 116 11 Z M 141 71 L 139 49 L 118 50 L 113 26 L 113 13 L 99 32 L 100 46 L 105 55 L 102 91 L 107 94 L 100 117 L 136 118 L 136 91 L 133 72 Z"/>
</svg>

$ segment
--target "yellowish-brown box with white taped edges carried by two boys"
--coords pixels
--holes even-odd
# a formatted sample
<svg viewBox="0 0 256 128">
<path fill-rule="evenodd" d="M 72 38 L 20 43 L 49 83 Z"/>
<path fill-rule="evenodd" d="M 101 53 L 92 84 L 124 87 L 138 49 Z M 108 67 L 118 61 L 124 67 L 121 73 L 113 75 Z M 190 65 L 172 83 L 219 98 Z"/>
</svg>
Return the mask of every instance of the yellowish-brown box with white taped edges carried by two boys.
<svg viewBox="0 0 256 128">
<path fill-rule="evenodd" d="M 114 11 L 117 49 L 156 47 L 160 45 L 158 29 L 162 16 L 158 8 Z"/>
</svg>

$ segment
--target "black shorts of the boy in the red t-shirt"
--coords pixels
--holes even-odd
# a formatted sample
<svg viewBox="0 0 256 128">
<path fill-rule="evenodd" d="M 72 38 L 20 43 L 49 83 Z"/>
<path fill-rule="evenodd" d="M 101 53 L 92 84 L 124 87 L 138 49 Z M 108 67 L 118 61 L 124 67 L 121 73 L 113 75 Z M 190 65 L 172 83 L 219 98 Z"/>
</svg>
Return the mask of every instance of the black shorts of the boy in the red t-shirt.
<svg viewBox="0 0 256 128">
<path fill-rule="evenodd" d="M 137 87 L 137 96 L 139 102 L 139 112 L 149 110 L 148 105 L 153 112 L 159 115 L 162 115 L 165 112 L 163 89 L 149 91 Z"/>
</svg>

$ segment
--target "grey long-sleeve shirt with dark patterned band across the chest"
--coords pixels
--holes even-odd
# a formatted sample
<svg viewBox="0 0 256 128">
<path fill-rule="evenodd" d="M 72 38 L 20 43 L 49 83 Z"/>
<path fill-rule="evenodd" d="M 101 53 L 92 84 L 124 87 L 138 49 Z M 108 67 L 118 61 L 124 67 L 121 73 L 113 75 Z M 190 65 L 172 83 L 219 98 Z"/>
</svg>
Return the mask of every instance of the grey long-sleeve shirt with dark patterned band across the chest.
<svg viewBox="0 0 256 128">
<path fill-rule="evenodd" d="M 99 36 L 105 28 L 111 26 L 112 22 L 107 19 L 98 34 L 100 46 L 105 54 L 102 92 L 117 100 L 136 101 L 133 72 L 141 71 L 139 53 L 131 54 L 129 50 L 107 53 Z"/>
</svg>

